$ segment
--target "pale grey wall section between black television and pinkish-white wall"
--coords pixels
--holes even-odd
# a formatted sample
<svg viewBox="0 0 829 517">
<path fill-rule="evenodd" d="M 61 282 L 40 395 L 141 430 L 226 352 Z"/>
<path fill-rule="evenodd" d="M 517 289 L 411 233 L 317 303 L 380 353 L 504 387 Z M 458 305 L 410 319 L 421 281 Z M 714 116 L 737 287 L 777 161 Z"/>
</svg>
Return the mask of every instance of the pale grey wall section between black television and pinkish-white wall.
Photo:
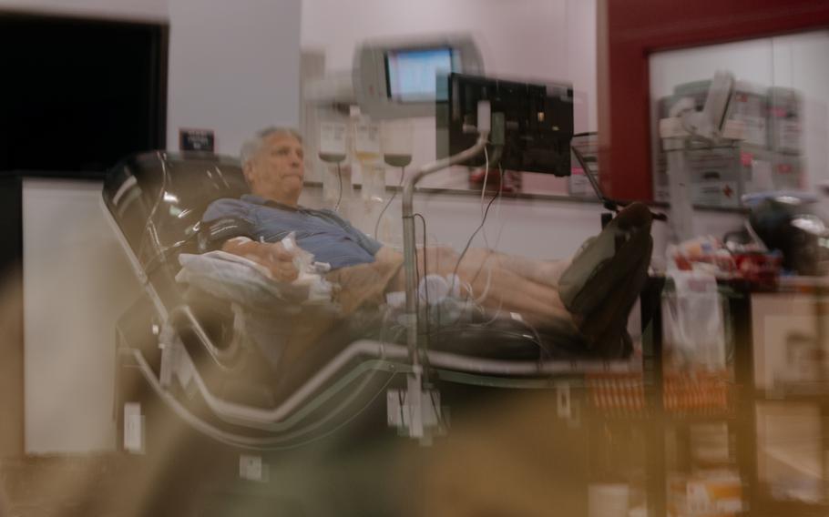
<svg viewBox="0 0 829 517">
<path fill-rule="evenodd" d="M 251 131 L 297 126 L 300 0 L 169 0 L 169 149 L 179 127 L 238 155 Z"/>
</svg>

